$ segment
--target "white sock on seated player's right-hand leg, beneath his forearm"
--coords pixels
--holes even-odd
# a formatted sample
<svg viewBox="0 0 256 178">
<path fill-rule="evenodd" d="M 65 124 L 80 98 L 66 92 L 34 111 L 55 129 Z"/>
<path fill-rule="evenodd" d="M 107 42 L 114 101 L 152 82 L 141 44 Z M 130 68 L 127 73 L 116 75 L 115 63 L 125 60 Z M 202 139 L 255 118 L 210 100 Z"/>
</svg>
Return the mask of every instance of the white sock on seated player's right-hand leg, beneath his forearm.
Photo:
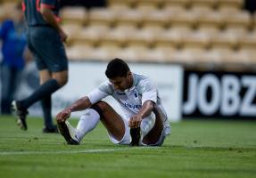
<svg viewBox="0 0 256 178">
<path fill-rule="evenodd" d="M 142 138 L 145 137 L 145 135 L 148 134 L 151 131 L 151 129 L 153 129 L 154 123 L 155 123 L 155 115 L 153 113 L 142 120 L 140 125 Z"/>
</svg>

